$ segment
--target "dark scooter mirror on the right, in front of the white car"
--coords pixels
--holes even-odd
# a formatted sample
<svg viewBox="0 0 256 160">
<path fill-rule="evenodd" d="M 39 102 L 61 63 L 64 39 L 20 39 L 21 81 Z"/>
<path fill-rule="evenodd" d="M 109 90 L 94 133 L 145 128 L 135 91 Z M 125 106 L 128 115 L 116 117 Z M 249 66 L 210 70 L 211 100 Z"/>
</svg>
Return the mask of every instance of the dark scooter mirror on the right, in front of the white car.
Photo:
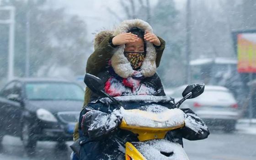
<svg viewBox="0 0 256 160">
<path fill-rule="evenodd" d="M 186 89 L 182 92 L 182 96 L 185 97 L 191 92 L 192 95 L 187 97 L 187 99 L 195 98 L 203 93 L 204 86 L 204 83 L 187 85 Z"/>
</svg>

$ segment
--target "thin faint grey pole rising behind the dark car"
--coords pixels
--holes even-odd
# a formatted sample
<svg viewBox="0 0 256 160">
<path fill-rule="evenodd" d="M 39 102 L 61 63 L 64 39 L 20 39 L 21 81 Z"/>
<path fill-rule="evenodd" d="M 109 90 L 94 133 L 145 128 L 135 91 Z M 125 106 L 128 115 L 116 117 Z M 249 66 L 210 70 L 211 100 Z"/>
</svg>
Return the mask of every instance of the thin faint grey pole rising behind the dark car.
<svg viewBox="0 0 256 160">
<path fill-rule="evenodd" d="M 29 54 L 30 54 L 30 11 L 27 11 L 26 15 L 27 24 L 26 24 L 26 68 L 25 76 L 29 77 Z"/>
</svg>

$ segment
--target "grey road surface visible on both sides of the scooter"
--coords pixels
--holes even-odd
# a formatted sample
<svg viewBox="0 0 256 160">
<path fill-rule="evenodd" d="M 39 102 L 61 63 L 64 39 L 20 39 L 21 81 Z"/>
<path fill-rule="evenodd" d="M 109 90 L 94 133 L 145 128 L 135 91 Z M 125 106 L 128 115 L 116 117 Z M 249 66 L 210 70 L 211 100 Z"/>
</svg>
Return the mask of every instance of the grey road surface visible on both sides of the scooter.
<svg viewBox="0 0 256 160">
<path fill-rule="evenodd" d="M 68 142 L 67 144 L 71 144 Z M 39 142 L 34 157 L 27 157 L 20 139 L 5 136 L 0 160 L 69 160 L 70 149 L 56 149 L 53 142 Z M 256 135 L 213 131 L 208 139 L 184 141 L 190 160 L 256 160 Z"/>
</svg>

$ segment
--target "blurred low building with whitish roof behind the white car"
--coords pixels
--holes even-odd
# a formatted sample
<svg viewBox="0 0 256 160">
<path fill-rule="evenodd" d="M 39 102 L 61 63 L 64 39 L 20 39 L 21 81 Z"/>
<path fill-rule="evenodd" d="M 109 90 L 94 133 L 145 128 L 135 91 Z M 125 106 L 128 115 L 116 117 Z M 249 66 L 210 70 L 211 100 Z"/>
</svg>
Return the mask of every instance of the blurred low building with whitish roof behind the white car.
<svg viewBox="0 0 256 160">
<path fill-rule="evenodd" d="M 190 61 L 192 83 L 203 82 L 207 85 L 227 87 L 236 99 L 242 92 L 243 83 L 237 72 L 237 59 L 216 57 Z"/>
</svg>

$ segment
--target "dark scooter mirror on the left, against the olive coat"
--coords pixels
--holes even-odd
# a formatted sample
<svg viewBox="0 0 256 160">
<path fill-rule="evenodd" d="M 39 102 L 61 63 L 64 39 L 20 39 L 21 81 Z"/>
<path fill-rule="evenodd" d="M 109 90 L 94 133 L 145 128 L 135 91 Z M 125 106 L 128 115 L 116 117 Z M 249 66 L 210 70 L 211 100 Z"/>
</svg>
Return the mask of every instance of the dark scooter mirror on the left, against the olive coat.
<svg viewBox="0 0 256 160">
<path fill-rule="evenodd" d="M 91 91 L 98 95 L 102 95 L 102 91 L 104 90 L 104 83 L 101 79 L 94 75 L 86 73 L 84 82 Z"/>
</svg>

